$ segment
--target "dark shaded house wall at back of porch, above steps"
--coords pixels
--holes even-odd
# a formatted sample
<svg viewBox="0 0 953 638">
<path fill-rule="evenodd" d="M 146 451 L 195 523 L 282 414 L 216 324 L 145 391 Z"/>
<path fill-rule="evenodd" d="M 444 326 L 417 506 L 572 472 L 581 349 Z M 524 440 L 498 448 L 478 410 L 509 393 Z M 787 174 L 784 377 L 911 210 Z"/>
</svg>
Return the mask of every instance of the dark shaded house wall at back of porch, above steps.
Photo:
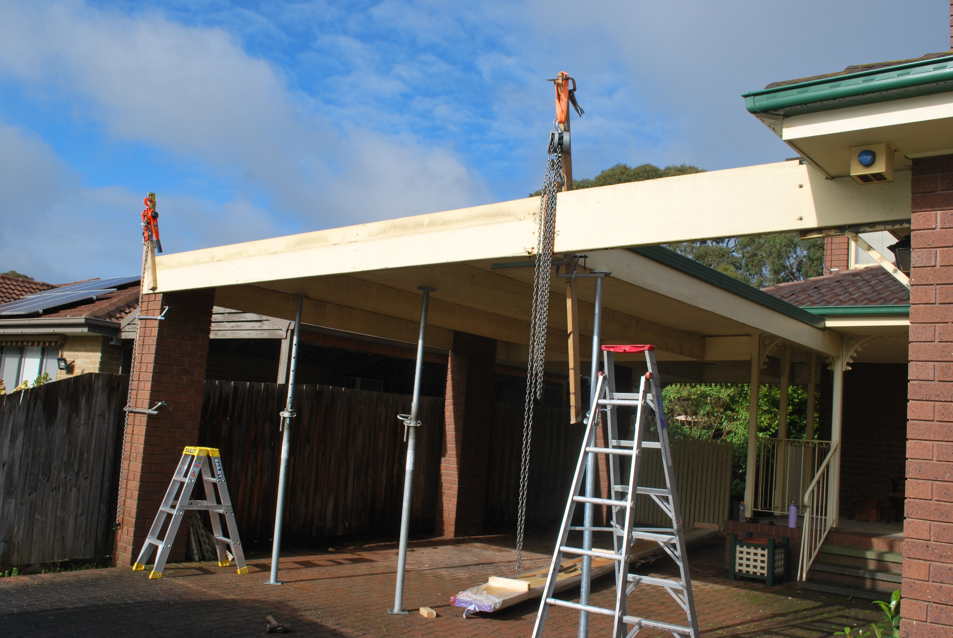
<svg viewBox="0 0 953 638">
<path fill-rule="evenodd" d="M 886 516 L 891 479 L 902 477 L 906 454 L 906 365 L 851 363 L 843 374 L 841 511 L 877 499 Z"/>
</svg>

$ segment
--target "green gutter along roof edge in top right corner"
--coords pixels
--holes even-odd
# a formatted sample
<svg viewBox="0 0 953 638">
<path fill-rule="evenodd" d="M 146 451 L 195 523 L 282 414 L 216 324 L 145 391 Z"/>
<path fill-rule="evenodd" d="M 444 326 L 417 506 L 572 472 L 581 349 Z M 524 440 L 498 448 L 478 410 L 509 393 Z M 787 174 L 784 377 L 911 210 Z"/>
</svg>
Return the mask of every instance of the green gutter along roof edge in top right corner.
<svg viewBox="0 0 953 638">
<path fill-rule="evenodd" d="M 749 113 L 794 115 L 953 91 L 953 55 L 743 93 Z"/>
</svg>

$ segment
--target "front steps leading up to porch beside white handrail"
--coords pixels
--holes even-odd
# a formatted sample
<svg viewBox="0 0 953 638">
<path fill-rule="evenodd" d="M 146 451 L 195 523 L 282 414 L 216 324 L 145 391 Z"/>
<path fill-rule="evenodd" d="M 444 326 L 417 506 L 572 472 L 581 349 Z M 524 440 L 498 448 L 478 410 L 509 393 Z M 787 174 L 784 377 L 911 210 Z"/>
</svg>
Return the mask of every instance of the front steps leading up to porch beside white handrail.
<svg viewBox="0 0 953 638">
<path fill-rule="evenodd" d="M 803 587 L 822 585 L 823 591 L 843 589 L 860 595 L 866 591 L 881 596 L 898 589 L 902 582 L 903 557 L 897 552 L 866 549 L 849 545 L 821 545 L 821 551 L 811 566 Z"/>
</svg>

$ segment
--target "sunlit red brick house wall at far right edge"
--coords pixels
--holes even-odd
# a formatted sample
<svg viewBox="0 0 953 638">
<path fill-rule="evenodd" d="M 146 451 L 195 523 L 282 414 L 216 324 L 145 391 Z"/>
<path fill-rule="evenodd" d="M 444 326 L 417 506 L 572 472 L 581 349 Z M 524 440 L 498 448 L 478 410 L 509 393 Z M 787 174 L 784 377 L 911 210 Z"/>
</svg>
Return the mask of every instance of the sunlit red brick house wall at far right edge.
<svg viewBox="0 0 953 638">
<path fill-rule="evenodd" d="M 953 155 L 913 160 L 904 636 L 953 636 Z"/>
</svg>

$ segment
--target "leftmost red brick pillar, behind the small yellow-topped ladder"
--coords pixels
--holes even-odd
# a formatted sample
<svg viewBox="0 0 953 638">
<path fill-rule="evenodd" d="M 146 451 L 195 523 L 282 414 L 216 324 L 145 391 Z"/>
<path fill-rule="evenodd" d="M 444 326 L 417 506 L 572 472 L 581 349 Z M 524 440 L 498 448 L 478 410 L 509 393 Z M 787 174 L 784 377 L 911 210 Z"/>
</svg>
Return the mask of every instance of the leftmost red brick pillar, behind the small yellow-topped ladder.
<svg viewBox="0 0 953 638">
<path fill-rule="evenodd" d="M 112 558 L 130 566 L 142 549 L 182 448 L 198 442 L 205 390 L 214 293 L 198 290 L 143 295 L 140 312 L 165 319 L 142 319 L 132 367 L 132 407 L 166 401 L 155 415 L 131 415 L 123 454 L 120 528 Z M 204 497 L 203 497 L 204 498 Z M 184 531 L 186 525 L 180 528 Z M 176 537 L 172 562 L 185 558 L 184 533 Z M 152 555 L 154 559 L 154 553 Z"/>
</svg>

